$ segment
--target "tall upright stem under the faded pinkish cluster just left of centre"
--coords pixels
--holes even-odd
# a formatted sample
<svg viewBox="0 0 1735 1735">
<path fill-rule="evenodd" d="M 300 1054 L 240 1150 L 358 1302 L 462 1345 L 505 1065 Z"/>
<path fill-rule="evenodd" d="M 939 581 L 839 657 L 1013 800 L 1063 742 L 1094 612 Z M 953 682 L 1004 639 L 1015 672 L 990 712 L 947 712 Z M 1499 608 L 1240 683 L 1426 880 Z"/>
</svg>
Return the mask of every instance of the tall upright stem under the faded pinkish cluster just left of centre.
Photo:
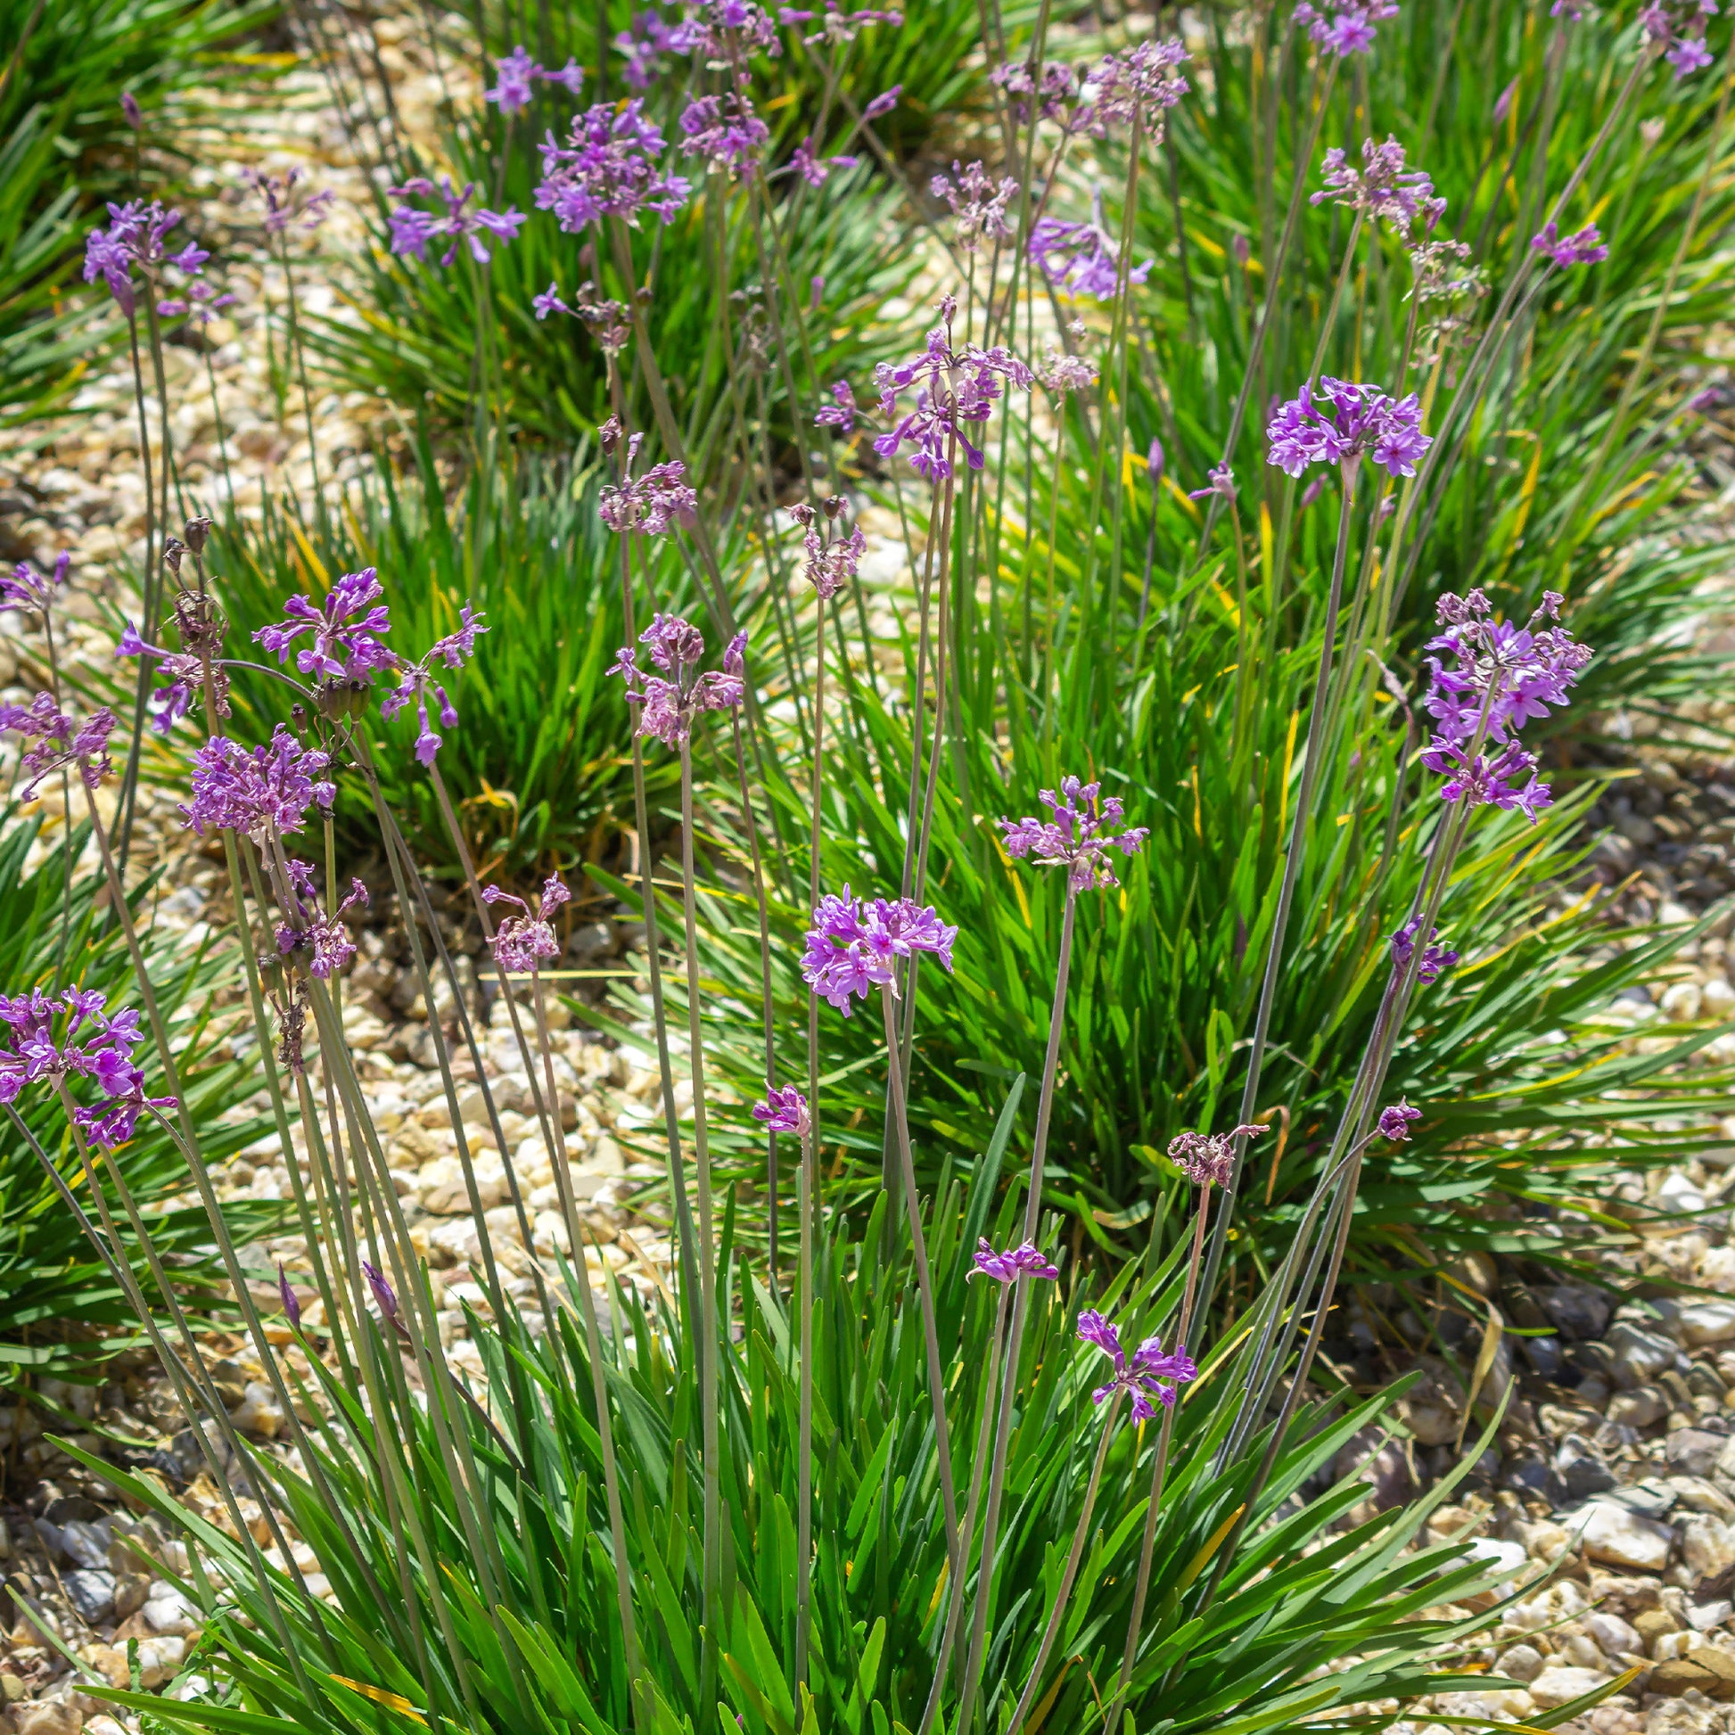
<svg viewBox="0 0 1735 1735">
<path fill-rule="evenodd" d="M 711 1152 L 704 1128 L 704 1032 L 699 1018 L 699 907 L 692 854 L 692 736 L 680 737 L 680 895 L 687 928 L 687 1043 L 692 1065 L 692 1159 L 699 1195 L 699 1416 L 704 1452 L 704 1662 L 701 1700 L 717 1693 L 723 1622 L 723 1480 L 718 1444 L 722 1338 L 717 1320 L 717 1230 L 711 1214 Z"/>
</svg>

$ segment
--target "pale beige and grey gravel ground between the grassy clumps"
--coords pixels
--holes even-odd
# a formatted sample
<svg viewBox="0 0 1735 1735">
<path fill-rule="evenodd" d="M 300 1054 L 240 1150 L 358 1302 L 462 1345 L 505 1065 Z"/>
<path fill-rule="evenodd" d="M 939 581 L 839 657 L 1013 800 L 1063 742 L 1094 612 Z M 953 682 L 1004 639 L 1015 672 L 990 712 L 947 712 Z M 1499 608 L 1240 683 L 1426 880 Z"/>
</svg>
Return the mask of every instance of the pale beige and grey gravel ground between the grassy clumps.
<svg viewBox="0 0 1735 1735">
<path fill-rule="evenodd" d="M 399 21 L 378 21 L 382 61 L 394 78 L 399 116 L 416 127 L 442 101 L 453 68 L 434 68 Z M 239 108 L 239 104 L 236 104 Z M 239 116 L 238 116 L 239 120 Z M 312 453 L 298 394 L 279 399 L 271 352 L 281 345 L 286 285 L 283 265 L 264 248 L 257 205 L 243 187 L 243 170 L 309 174 L 312 189 L 338 194 L 321 231 L 321 260 L 363 238 L 357 201 L 368 196 L 370 170 L 354 161 L 330 95 L 311 69 L 288 75 L 272 92 L 262 125 L 257 106 L 245 123 L 213 127 L 205 139 L 196 184 L 205 193 L 206 245 L 227 265 L 222 288 L 236 297 L 226 318 L 208 328 L 208 345 L 172 345 L 168 378 L 172 441 L 179 474 L 191 494 L 210 494 L 219 477 L 234 481 L 236 503 L 255 510 L 267 488 L 314 486 Z M 215 231 L 215 234 L 213 234 Z M 340 305 L 342 278 L 326 265 L 297 265 L 297 288 L 309 311 Z M 68 642 L 87 670 L 108 665 L 113 619 L 125 612 L 121 573 L 137 569 L 144 536 L 144 477 L 125 366 L 92 378 L 82 392 L 88 413 L 68 423 L 45 448 L 0 444 L 0 557 L 52 562 L 73 552 Z M 316 394 L 314 439 L 319 475 L 342 491 L 366 462 L 380 429 L 380 406 L 361 394 Z M 149 423 L 156 429 L 151 406 Z M 1728 442 L 1707 427 L 1699 453 L 1707 531 L 1721 527 L 1735 503 L 1735 468 Z M 160 463 L 161 453 L 153 451 Z M 897 583 L 900 555 L 876 550 L 878 581 Z M 1707 593 L 1700 644 L 1718 654 L 1735 649 L 1723 590 Z M 28 696 L 23 685 L 40 666 L 42 640 L 14 614 L 0 616 L 0 701 Z M 1699 723 L 1719 717 L 1695 715 Z M 1716 737 L 1702 736 L 1692 753 L 1664 756 L 1647 748 L 1643 727 L 1633 737 L 1629 779 L 1600 803 L 1601 833 L 1589 866 L 1614 900 L 1610 944 L 1631 944 L 1622 930 L 1643 923 L 1679 923 L 1721 907 L 1709 932 L 1664 979 L 1629 991 L 1608 1012 L 1629 1027 L 1634 1043 L 1662 1041 L 1652 1024 L 1726 1020 L 1735 1012 L 1730 937 L 1735 930 L 1735 758 Z M 222 932 L 231 911 L 220 859 L 187 847 L 175 812 L 177 791 L 147 789 L 142 803 L 141 862 L 163 864 L 170 894 L 156 921 L 186 937 Z M 52 815 L 54 798 L 43 795 Z M 52 831 L 49 845 L 52 847 Z M 468 1270 L 477 1225 L 456 1164 L 456 1133 L 439 1072 L 432 1065 L 429 1008 L 408 961 L 408 944 L 389 897 L 376 900 L 357 930 L 359 956 L 345 989 L 345 1031 L 375 1123 L 387 1138 L 394 1182 L 411 1220 L 411 1235 L 434 1270 L 435 1300 L 453 1362 L 479 1372 L 463 1306 L 486 1317 L 486 1298 Z M 477 1180 L 486 1220 L 514 1294 L 531 1293 L 531 1261 L 566 1253 L 566 1232 L 553 1211 L 550 1154 L 531 1119 L 527 1083 L 505 1005 L 489 980 L 486 951 L 474 921 L 451 913 L 446 940 L 458 959 L 472 1010 L 486 1027 L 489 1083 L 501 1109 L 533 1225 L 524 1247 L 507 1194 L 501 1152 L 481 1112 L 474 1069 L 460 1062 L 460 1116 L 477 1152 Z M 626 968 L 633 932 L 616 920 L 573 930 L 564 968 Z M 451 1008 L 435 994 L 435 1017 Z M 630 1161 L 635 1131 L 656 1117 L 656 1074 L 645 1053 L 618 1050 L 573 1029 L 562 1013 L 555 1032 L 562 1123 L 574 1157 L 576 1190 L 585 1202 L 590 1270 L 602 1265 L 619 1280 L 652 1293 L 665 1284 L 670 1247 L 656 1221 L 632 1211 L 638 1183 L 659 1173 Z M 250 1031 L 236 1029 L 238 1053 Z M 1718 1036 L 1700 1064 L 1735 1062 L 1735 1034 Z M 264 1107 L 264 1098 L 253 1105 Z M 1334 1475 L 1359 1473 L 1367 1499 L 1350 1522 L 1398 1504 L 1430 1485 L 1456 1461 L 1456 1444 L 1476 1431 L 1487 1395 L 1516 1381 L 1503 1431 L 1457 1490 L 1438 1508 L 1430 1537 L 1466 1527 L 1492 1563 L 1516 1568 L 1499 1626 L 1480 1653 L 1492 1676 L 1516 1686 L 1424 1700 L 1405 1735 L 1445 1735 L 1438 1718 L 1523 1721 L 1631 1673 L 1622 1692 L 1567 1725 L 1596 1735 L 1700 1735 L 1735 1732 L 1735 1102 L 1723 1123 L 1730 1145 L 1707 1161 L 1681 1162 L 1650 1175 L 1633 1173 L 1617 1188 L 1612 1209 L 1633 1234 L 1603 1254 L 1608 1275 L 1648 1300 L 1614 1306 L 1601 1291 L 1539 1277 L 1523 1263 L 1471 1256 L 1454 1275 L 1496 1305 L 1506 1322 L 1546 1331 L 1508 1338 L 1490 1379 L 1478 1393 L 1478 1414 L 1464 1417 L 1464 1391 L 1442 1360 L 1421 1359 L 1423 1383 L 1404 1404 L 1412 1438 L 1371 1433 L 1345 1447 Z M 297 1142 L 295 1161 L 305 1156 Z M 276 1138 L 257 1142 L 220 1176 L 231 1199 L 283 1199 L 291 1180 Z M 1728 1204 L 1725 1202 L 1728 1201 Z M 1671 1220 L 1671 1213 L 1674 1214 Z M 1679 1213 L 1695 1213 L 1679 1216 Z M 305 1270 L 305 1247 L 285 1237 L 250 1249 L 260 1272 L 283 1260 L 291 1275 Z M 1671 1298 L 1662 1284 L 1690 1286 Z M 319 1303 L 302 1287 L 304 1322 L 319 1326 Z M 1369 1298 L 1378 1303 L 1379 1298 Z M 1405 1360 L 1376 1338 L 1359 1308 L 1345 1308 L 1346 1336 L 1334 1346 L 1339 1365 L 1379 1383 Z M 278 1332 L 288 1346 L 288 1332 Z M 1513 1348 L 1516 1345 L 1516 1350 Z M 238 1426 L 259 1442 L 274 1440 L 283 1423 L 262 1369 L 239 1339 L 212 1339 L 219 1376 Z M 286 1348 L 293 1362 L 300 1350 Z M 215 1509 L 215 1490 L 200 1470 L 193 1437 L 146 1355 L 116 1364 L 102 1388 L 42 1383 L 42 1395 L 83 1417 L 87 1438 L 104 1435 L 141 1442 L 128 1461 L 147 1464 L 200 1508 Z M 0 1515 L 0 1565 L 7 1584 L 40 1610 L 59 1640 L 80 1659 L 73 1671 L 28 1620 L 0 1634 L 0 1735 L 118 1735 L 121 1725 L 80 1690 L 94 1678 L 127 1685 L 137 1667 L 146 1688 L 191 1695 L 200 1688 L 193 1612 L 161 1568 L 180 1568 L 179 1544 L 149 1522 L 116 1508 L 113 1492 L 42 1442 L 38 1411 L 0 1407 L 0 1450 L 9 1466 L 14 1504 Z M 318 1562 L 297 1544 L 300 1563 Z M 318 1582 L 318 1579 L 314 1579 Z M 128 1655 L 130 1641 L 137 1641 Z M 1395 1712 L 1397 1706 L 1369 1707 Z M 127 1725 L 135 1728 L 135 1723 Z"/>
</svg>

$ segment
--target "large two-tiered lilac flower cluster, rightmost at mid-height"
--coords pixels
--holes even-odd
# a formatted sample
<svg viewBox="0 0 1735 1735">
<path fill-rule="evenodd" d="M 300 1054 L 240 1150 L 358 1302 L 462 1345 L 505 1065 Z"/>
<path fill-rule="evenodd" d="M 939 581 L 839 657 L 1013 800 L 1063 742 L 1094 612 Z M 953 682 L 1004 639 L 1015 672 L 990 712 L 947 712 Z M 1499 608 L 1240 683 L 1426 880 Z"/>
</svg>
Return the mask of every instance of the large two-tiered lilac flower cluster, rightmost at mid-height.
<svg viewBox="0 0 1735 1735">
<path fill-rule="evenodd" d="M 1551 704 L 1565 704 L 1591 661 L 1591 647 L 1579 644 L 1565 626 L 1542 626 L 1544 619 L 1558 619 L 1560 602 L 1556 592 L 1546 592 L 1541 607 L 1520 628 L 1496 621 L 1480 590 L 1440 597 L 1438 619 L 1445 632 L 1431 638 L 1428 649 L 1450 652 L 1454 666 L 1428 658 L 1423 703 L 1438 734 L 1423 753 L 1423 763 L 1447 777 L 1442 800 L 1516 809 L 1532 824 L 1537 810 L 1553 800 L 1548 784 L 1537 781 L 1535 755 L 1508 741 L 1506 732 L 1548 717 Z M 1485 741 L 1497 751 L 1482 751 Z"/>
</svg>

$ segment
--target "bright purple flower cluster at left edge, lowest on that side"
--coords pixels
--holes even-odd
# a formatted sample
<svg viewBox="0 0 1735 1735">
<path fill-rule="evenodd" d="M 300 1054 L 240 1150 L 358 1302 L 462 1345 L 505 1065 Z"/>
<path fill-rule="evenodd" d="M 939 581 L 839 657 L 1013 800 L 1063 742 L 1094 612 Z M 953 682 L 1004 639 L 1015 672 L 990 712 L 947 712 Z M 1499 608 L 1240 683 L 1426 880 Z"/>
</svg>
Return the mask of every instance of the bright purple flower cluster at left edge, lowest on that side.
<svg viewBox="0 0 1735 1735">
<path fill-rule="evenodd" d="M 0 1024 L 10 1027 L 10 1048 L 0 1048 L 0 1102 L 17 1102 L 26 1084 L 92 1079 L 102 1100 L 75 1109 L 73 1119 L 94 1145 L 113 1150 L 132 1138 L 146 1109 L 174 1109 L 175 1098 L 144 1095 L 144 1074 L 132 1062 L 139 1013 L 109 1017 L 104 1005 L 95 989 L 0 994 Z"/>
</svg>

